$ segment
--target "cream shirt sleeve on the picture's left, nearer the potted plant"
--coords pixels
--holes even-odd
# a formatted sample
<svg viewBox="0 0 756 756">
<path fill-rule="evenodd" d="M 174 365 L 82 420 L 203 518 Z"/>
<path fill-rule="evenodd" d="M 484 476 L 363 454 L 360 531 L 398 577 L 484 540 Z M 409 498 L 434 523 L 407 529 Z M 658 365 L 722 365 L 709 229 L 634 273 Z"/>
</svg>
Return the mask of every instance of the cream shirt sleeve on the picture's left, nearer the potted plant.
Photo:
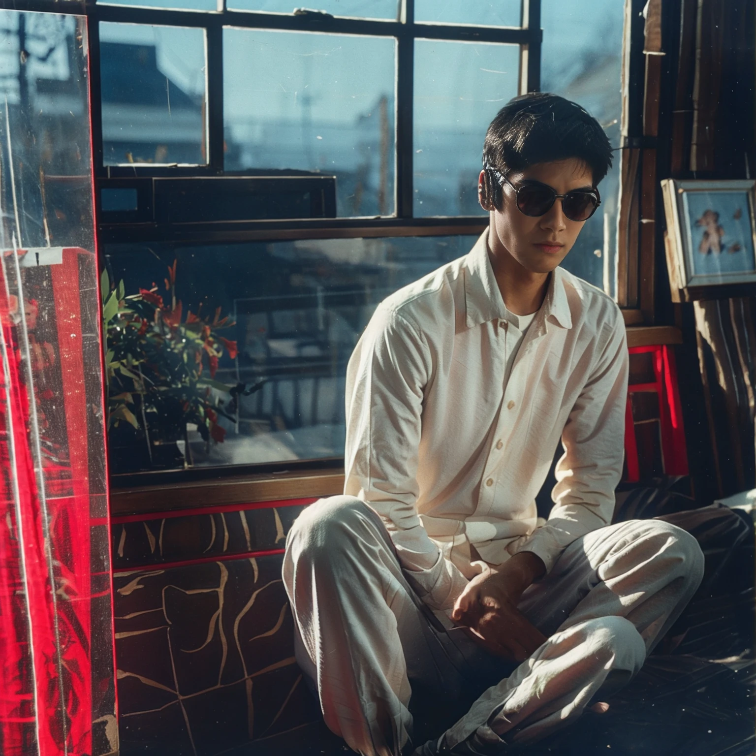
<svg viewBox="0 0 756 756">
<path fill-rule="evenodd" d="M 422 334 L 379 307 L 347 367 L 344 493 L 383 520 L 423 602 L 451 609 L 467 580 L 431 541 L 416 507 L 423 389 L 431 375 Z"/>
</svg>

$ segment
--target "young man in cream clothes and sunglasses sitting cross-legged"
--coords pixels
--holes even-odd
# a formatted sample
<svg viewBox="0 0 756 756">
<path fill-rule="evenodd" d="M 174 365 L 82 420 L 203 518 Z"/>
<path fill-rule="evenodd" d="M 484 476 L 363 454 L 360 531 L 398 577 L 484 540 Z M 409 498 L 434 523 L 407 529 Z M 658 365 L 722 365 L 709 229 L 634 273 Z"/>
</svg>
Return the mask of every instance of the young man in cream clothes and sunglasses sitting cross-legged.
<svg viewBox="0 0 756 756">
<path fill-rule="evenodd" d="M 610 524 L 624 323 L 559 268 L 600 203 L 606 135 L 525 95 L 483 157 L 488 230 L 376 309 L 347 374 L 345 495 L 287 538 L 297 661 L 365 756 L 504 754 L 606 710 L 702 578 L 680 528 Z M 424 745 L 418 711 L 446 715 Z"/>
</svg>

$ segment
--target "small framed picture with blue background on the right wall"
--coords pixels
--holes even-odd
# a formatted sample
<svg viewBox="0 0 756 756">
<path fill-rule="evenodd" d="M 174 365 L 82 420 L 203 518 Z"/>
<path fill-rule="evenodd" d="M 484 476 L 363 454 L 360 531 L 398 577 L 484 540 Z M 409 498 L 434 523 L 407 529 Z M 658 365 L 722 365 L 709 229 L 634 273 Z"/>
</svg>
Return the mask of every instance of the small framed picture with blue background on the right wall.
<svg viewBox="0 0 756 756">
<path fill-rule="evenodd" d="M 756 181 L 662 181 L 672 289 L 756 283 Z"/>
</svg>

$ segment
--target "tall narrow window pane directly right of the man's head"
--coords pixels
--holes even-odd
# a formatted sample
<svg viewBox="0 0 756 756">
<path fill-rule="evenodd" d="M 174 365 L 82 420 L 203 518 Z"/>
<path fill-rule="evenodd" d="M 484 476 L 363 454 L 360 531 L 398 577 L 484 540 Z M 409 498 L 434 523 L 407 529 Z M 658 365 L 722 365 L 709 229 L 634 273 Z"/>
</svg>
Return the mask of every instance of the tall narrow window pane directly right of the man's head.
<svg viewBox="0 0 756 756">
<path fill-rule="evenodd" d="M 581 104 L 619 147 L 622 3 L 542 0 L 544 46 L 541 89 Z M 599 186 L 601 206 L 586 222 L 562 263 L 575 275 L 616 296 L 619 153 Z"/>
</svg>

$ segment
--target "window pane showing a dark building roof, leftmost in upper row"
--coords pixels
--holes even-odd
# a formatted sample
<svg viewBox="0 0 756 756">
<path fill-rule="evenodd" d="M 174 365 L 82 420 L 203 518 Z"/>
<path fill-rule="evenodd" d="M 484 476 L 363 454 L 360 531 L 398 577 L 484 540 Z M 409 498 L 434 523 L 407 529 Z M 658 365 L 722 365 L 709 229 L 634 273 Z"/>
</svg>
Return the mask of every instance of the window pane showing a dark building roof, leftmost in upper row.
<svg viewBox="0 0 756 756">
<path fill-rule="evenodd" d="M 205 32 L 100 24 L 106 166 L 207 163 Z"/>
</svg>

